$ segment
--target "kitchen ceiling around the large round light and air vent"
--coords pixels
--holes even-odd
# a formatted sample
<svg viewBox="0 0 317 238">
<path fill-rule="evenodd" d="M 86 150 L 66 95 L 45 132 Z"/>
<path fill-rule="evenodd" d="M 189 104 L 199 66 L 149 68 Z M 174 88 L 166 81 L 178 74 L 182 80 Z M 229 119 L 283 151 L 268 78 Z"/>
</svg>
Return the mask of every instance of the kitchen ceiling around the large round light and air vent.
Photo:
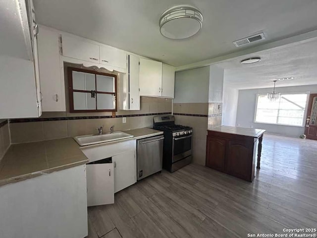
<svg viewBox="0 0 317 238">
<path fill-rule="evenodd" d="M 40 24 L 179 66 L 317 29 L 316 0 L 34 0 Z M 203 28 L 171 40 L 159 33 L 167 8 L 201 9 Z M 236 48 L 232 42 L 264 31 L 266 40 Z M 265 62 L 265 61 L 264 61 Z"/>
</svg>

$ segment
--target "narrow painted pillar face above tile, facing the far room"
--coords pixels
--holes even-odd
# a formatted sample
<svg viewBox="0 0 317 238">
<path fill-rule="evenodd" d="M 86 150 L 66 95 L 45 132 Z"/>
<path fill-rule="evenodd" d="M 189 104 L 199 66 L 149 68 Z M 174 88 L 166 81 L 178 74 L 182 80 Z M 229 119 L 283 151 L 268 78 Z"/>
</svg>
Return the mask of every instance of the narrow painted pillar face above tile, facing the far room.
<svg viewBox="0 0 317 238">
<path fill-rule="evenodd" d="M 209 102 L 210 103 L 222 103 L 222 91 L 223 91 L 223 68 L 219 68 L 215 65 L 210 66 L 209 74 Z"/>
</svg>

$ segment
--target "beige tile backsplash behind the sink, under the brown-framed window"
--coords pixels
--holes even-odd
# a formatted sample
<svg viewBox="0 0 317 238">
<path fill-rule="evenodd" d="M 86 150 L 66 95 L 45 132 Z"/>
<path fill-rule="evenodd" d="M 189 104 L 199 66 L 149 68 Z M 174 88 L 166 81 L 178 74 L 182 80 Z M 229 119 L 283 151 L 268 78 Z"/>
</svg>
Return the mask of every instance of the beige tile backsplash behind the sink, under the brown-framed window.
<svg viewBox="0 0 317 238">
<path fill-rule="evenodd" d="M 12 119 L 11 141 L 23 143 L 94 134 L 97 132 L 96 127 L 100 126 L 104 127 L 104 131 L 109 131 L 112 125 L 114 130 L 152 127 L 155 114 L 171 113 L 172 101 L 141 97 L 140 109 L 140 111 L 118 110 L 115 118 L 111 117 L 111 113 L 44 112 L 39 119 Z M 126 123 L 122 123 L 124 116 Z"/>
</svg>

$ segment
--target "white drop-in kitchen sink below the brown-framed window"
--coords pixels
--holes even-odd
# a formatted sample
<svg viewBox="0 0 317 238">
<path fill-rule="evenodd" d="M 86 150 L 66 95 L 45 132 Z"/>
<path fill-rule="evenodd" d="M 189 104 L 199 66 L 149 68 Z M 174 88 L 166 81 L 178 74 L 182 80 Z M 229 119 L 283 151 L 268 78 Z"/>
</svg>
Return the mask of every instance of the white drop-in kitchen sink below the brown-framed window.
<svg viewBox="0 0 317 238">
<path fill-rule="evenodd" d="M 115 131 L 113 133 L 106 133 L 103 135 L 76 136 L 74 137 L 74 139 L 79 145 L 84 146 L 84 145 L 93 145 L 93 144 L 99 144 L 99 143 L 115 141 L 115 140 L 122 140 L 126 138 L 131 138 L 131 137 L 133 137 L 133 135 L 130 135 L 122 131 Z"/>
</svg>

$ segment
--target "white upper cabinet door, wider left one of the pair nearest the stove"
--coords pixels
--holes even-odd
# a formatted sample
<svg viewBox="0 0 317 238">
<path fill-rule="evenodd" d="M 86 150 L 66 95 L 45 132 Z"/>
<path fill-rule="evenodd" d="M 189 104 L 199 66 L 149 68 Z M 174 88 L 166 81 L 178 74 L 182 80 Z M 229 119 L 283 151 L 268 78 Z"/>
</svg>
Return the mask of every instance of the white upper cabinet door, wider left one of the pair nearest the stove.
<svg viewBox="0 0 317 238">
<path fill-rule="evenodd" d="M 162 63 L 154 60 L 140 59 L 140 95 L 161 96 Z"/>
</svg>

